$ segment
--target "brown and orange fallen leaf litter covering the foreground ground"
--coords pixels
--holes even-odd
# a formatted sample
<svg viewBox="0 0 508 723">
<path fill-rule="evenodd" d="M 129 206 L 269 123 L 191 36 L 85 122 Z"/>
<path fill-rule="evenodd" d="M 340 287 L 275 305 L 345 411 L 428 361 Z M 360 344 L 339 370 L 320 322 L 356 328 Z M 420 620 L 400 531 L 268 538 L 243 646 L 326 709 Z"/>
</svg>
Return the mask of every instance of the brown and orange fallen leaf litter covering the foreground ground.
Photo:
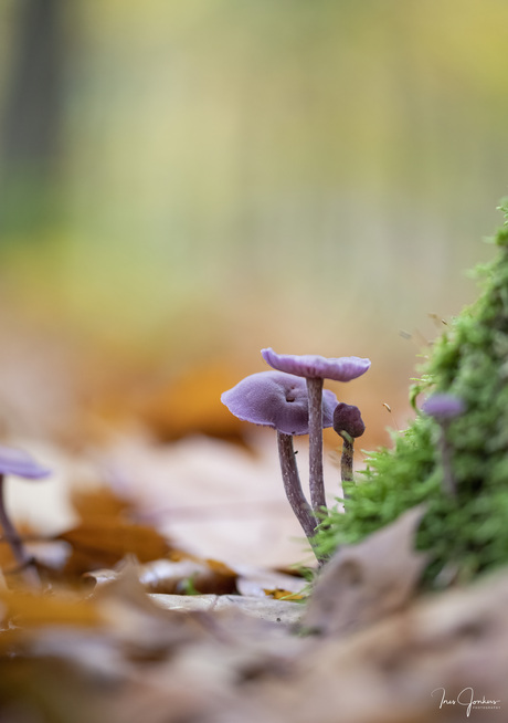
<svg viewBox="0 0 508 723">
<path fill-rule="evenodd" d="M 455 723 L 464 706 L 433 691 L 502 698 L 508 575 L 419 595 L 421 506 L 338 551 L 311 591 L 140 532 L 110 490 L 76 510 L 53 541 L 71 548 L 62 569 L 40 565 L 44 590 L 11 575 L 0 590 L 2 721 Z M 476 720 L 506 720 L 491 708 Z"/>
</svg>

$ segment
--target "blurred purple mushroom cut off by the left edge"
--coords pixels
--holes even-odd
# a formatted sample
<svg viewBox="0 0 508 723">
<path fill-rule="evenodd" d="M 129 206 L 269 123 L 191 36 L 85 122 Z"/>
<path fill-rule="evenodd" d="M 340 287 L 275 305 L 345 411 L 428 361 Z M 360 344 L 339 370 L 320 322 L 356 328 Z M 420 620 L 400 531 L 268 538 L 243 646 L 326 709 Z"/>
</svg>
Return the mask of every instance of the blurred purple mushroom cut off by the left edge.
<svg viewBox="0 0 508 723">
<path fill-rule="evenodd" d="M 39 464 L 28 452 L 0 446 L 0 525 L 3 530 L 3 538 L 10 545 L 18 565 L 24 570 L 27 583 L 38 585 L 40 580 L 36 570 L 34 567 L 30 567 L 30 555 L 24 549 L 21 537 L 6 510 L 3 494 L 6 474 L 13 474 L 25 480 L 42 480 L 49 476 L 51 471 Z"/>
</svg>

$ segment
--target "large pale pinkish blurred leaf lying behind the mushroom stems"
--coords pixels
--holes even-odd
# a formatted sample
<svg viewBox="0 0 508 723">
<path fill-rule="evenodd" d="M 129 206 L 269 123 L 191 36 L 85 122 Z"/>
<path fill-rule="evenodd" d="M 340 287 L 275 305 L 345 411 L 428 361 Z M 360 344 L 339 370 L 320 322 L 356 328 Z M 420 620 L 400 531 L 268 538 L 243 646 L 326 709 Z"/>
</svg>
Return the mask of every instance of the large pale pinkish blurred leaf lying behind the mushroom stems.
<svg viewBox="0 0 508 723">
<path fill-rule="evenodd" d="M 136 518 L 199 557 L 235 568 L 293 564 L 310 548 L 284 495 L 273 430 L 260 430 L 255 455 L 204 437 L 162 446 L 120 436 L 104 464 L 135 500 Z M 305 467 L 305 443 L 300 454 Z"/>
</svg>

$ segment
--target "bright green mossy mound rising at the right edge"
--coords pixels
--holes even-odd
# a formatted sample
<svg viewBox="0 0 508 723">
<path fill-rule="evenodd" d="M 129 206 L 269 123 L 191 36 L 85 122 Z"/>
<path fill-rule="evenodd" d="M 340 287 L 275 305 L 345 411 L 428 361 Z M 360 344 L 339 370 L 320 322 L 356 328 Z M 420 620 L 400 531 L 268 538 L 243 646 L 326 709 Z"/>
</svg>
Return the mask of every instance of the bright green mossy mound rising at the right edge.
<svg viewBox="0 0 508 723">
<path fill-rule="evenodd" d="M 321 555 L 424 502 L 416 546 L 430 554 L 428 585 L 442 570 L 465 581 L 508 563 L 508 199 L 500 208 L 506 221 L 493 239 L 496 259 L 480 270 L 483 293 L 434 344 L 411 390 L 413 402 L 422 391 L 451 392 L 465 402 L 466 412 L 447 431 L 456 497 L 443 491 L 437 423 L 419 413 L 393 449 L 369 457 L 348 490 L 346 514 L 332 512 L 318 533 Z"/>
</svg>

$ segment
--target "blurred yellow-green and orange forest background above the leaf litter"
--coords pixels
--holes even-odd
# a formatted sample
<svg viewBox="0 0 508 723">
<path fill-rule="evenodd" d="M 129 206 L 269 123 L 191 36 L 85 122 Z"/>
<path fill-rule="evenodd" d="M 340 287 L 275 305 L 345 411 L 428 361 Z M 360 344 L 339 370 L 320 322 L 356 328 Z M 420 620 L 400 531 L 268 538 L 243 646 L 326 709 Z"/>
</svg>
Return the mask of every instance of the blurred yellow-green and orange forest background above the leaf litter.
<svg viewBox="0 0 508 723">
<path fill-rule="evenodd" d="M 2 431 L 239 438 L 273 346 L 370 357 L 330 386 L 388 443 L 493 254 L 507 77 L 501 0 L 3 0 Z"/>
</svg>

